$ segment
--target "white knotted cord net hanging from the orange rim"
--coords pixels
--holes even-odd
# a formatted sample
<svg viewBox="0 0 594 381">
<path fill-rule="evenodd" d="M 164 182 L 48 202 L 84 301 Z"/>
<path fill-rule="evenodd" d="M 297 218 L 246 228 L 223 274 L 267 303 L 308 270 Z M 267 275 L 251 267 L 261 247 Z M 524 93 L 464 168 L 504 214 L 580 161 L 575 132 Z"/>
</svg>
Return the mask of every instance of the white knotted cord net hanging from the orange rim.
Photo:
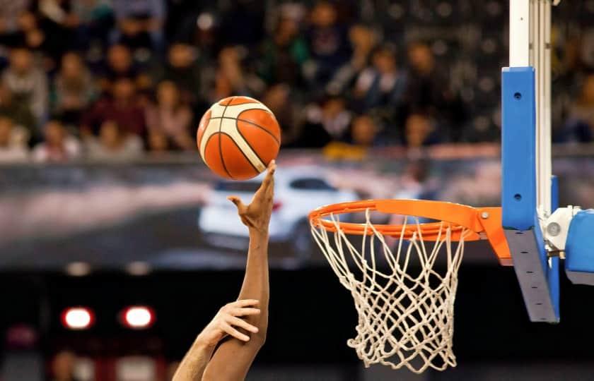
<svg viewBox="0 0 594 381">
<path fill-rule="evenodd" d="M 452 248 L 450 224 L 441 222 L 435 241 L 425 242 L 419 220 L 404 217 L 400 237 L 388 242 L 371 223 L 367 210 L 359 250 L 340 229 L 337 217 L 328 218 L 337 232 L 312 224 L 312 234 L 354 298 L 357 335 L 347 344 L 365 366 L 405 366 L 414 373 L 455 366 L 454 300 L 469 231 L 462 229 L 458 245 Z M 409 219 L 414 224 L 407 226 Z M 434 267 L 436 262 L 440 265 Z"/>
</svg>

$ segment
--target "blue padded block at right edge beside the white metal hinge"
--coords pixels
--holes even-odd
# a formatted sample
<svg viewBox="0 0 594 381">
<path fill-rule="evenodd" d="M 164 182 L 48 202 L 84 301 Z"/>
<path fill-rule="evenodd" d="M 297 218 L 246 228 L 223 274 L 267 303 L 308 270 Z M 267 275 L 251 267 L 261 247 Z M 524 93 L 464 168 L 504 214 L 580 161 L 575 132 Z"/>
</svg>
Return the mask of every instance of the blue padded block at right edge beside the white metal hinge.
<svg viewBox="0 0 594 381">
<path fill-rule="evenodd" d="M 594 275 L 594 210 L 578 212 L 569 224 L 565 244 L 565 270 Z"/>
</svg>

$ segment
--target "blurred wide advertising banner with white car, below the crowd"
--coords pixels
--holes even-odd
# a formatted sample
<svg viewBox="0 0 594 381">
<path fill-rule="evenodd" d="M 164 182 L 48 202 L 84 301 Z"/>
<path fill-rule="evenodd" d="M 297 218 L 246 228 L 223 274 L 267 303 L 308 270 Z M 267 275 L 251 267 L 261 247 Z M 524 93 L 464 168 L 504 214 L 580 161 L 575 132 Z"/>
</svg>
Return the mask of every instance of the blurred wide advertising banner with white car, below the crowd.
<svg viewBox="0 0 594 381">
<path fill-rule="evenodd" d="M 588 207 L 594 161 L 579 150 L 557 151 L 559 205 L 573 200 Z M 330 202 L 424 198 L 499 205 L 494 145 L 441 146 L 422 154 L 341 146 L 285 150 L 278 162 L 273 267 L 324 263 L 306 216 Z M 243 268 L 247 229 L 226 196 L 248 202 L 258 181 L 220 181 L 197 155 L 1 167 L 0 270 L 55 271 L 78 262 L 96 270 Z"/>
</svg>

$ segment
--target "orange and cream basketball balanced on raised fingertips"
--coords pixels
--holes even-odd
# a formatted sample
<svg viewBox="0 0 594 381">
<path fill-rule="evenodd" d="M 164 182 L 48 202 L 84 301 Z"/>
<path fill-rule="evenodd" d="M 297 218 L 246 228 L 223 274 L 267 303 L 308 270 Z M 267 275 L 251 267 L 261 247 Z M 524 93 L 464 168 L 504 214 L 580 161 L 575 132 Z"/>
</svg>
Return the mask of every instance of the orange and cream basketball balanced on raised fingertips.
<svg viewBox="0 0 594 381">
<path fill-rule="evenodd" d="M 197 131 L 200 156 L 226 179 L 257 176 L 279 154 L 281 129 L 272 111 L 250 97 L 228 97 L 204 113 Z"/>
</svg>

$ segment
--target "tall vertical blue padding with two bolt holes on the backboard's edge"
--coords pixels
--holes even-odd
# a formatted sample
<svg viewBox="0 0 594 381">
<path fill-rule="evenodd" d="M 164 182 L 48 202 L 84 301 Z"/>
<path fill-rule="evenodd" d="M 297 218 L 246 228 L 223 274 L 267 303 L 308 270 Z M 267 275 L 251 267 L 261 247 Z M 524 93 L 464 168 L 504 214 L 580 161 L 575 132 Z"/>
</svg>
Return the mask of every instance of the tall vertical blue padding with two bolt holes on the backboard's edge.
<svg viewBox="0 0 594 381">
<path fill-rule="evenodd" d="M 501 207 L 503 227 L 528 230 L 536 212 L 535 71 L 501 73 Z"/>
</svg>

